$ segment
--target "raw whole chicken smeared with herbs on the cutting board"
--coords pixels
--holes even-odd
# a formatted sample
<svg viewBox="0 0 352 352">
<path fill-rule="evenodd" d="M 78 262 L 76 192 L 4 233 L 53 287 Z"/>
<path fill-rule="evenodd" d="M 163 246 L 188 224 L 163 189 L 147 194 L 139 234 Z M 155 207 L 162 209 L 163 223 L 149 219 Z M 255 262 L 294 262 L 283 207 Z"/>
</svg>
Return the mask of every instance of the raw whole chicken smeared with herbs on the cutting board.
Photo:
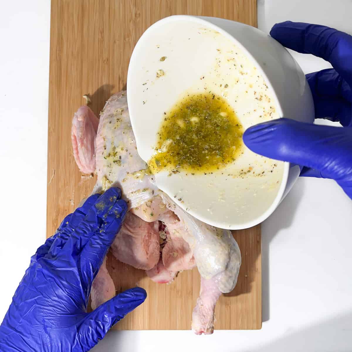
<svg viewBox="0 0 352 352">
<path fill-rule="evenodd" d="M 92 193 L 119 187 L 129 212 L 114 243 L 113 255 L 146 270 L 157 283 L 172 282 L 178 271 L 197 266 L 201 288 L 192 314 L 196 334 L 214 330 L 214 309 L 221 293 L 236 285 L 241 254 L 232 234 L 207 225 L 178 207 L 160 191 L 137 153 L 126 92 L 113 95 L 98 119 L 88 106 L 75 113 L 72 146 L 83 173 L 96 172 Z M 115 295 L 104 260 L 91 291 L 92 308 Z"/>
</svg>

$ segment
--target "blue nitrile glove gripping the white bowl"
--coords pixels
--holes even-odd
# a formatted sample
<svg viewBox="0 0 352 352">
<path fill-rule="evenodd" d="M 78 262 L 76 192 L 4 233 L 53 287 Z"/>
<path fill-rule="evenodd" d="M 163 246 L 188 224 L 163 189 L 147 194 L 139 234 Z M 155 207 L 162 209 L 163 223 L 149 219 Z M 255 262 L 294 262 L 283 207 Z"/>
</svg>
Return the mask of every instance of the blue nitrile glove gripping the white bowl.
<svg viewBox="0 0 352 352">
<path fill-rule="evenodd" d="M 301 176 L 332 178 L 352 198 L 352 36 L 290 21 L 276 24 L 270 35 L 287 48 L 333 65 L 306 77 L 315 117 L 340 121 L 344 128 L 272 120 L 248 128 L 244 143 L 258 154 L 304 166 Z"/>
</svg>

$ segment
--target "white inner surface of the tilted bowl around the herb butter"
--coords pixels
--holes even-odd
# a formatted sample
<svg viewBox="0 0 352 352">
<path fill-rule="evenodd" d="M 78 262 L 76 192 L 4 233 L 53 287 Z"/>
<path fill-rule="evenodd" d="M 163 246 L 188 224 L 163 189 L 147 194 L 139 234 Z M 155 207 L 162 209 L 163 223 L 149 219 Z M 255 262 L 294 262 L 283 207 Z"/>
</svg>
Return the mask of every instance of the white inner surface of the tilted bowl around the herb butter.
<svg viewBox="0 0 352 352">
<path fill-rule="evenodd" d="M 215 70 L 217 65 L 220 68 Z M 234 65 L 242 65 L 245 79 L 238 76 L 237 82 L 240 73 L 233 73 Z M 262 77 L 267 86 L 260 100 L 255 99 L 260 97 L 256 96 L 256 84 L 260 83 L 256 77 Z M 133 51 L 127 77 L 131 123 L 144 161 L 155 152 L 164 112 L 186 92 L 208 91 L 230 103 L 243 130 L 281 117 L 276 95 L 262 69 L 229 33 L 191 16 L 172 16 L 152 25 Z M 269 111 L 270 116 L 263 116 Z M 288 165 L 243 146 L 233 164 L 211 174 L 191 175 L 180 170 L 170 175 L 162 171 L 155 178 L 161 190 L 196 218 L 234 230 L 254 226 L 270 215 L 281 199 L 287 174 Z"/>
</svg>

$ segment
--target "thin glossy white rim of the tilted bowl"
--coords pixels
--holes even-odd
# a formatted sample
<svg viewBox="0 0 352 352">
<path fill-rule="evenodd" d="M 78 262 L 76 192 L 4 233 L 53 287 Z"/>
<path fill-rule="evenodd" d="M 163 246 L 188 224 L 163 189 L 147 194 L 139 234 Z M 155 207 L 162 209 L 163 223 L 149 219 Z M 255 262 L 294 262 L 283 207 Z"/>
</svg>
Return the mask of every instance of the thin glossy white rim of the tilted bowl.
<svg viewBox="0 0 352 352">
<path fill-rule="evenodd" d="M 160 20 L 158 20 L 157 22 L 153 23 L 151 26 L 149 26 L 144 33 L 142 34 L 142 36 L 138 39 L 136 45 L 134 46 L 131 58 L 130 58 L 130 62 L 128 64 L 128 71 L 127 71 L 127 101 L 132 99 L 133 93 L 131 88 L 129 89 L 129 87 L 131 87 L 131 84 L 129 84 L 129 82 L 131 81 L 131 76 L 132 76 L 132 69 L 131 69 L 131 62 L 134 61 L 134 56 L 136 55 L 136 49 L 139 50 L 139 47 L 143 47 L 142 43 L 144 43 L 144 38 L 146 36 L 146 34 L 149 34 L 149 32 L 152 32 L 156 29 L 158 29 L 159 27 L 163 26 L 166 23 L 170 23 L 170 22 L 178 22 L 178 21 L 189 21 L 189 22 L 193 22 L 193 23 L 199 23 L 204 25 L 205 27 L 208 27 L 210 29 L 216 30 L 217 32 L 219 32 L 221 35 L 225 36 L 226 38 L 228 38 L 229 40 L 231 40 L 235 45 L 239 46 L 241 48 L 241 50 L 243 50 L 243 52 L 245 53 L 245 55 L 252 61 L 252 63 L 254 64 L 254 66 L 259 70 L 260 74 L 263 76 L 265 83 L 267 84 L 271 94 L 273 95 L 275 102 L 276 102 L 276 107 L 278 109 L 279 112 L 279 118 L 283 118 L 283 109 L 281 106 L 281 103 L 276 95 L 276 92 L 271 84 L 271 81 L 269 80 L 268 76 L 266 75 L 262 65 L 260 65 L 260 63 L 253 57 L 253 55 L 251 54 L 250 51 L 247 50 L 247 48 L 241 44 L 232 34 L 230 34 L 229 32 L 227 32 L 226 30 L 222 29 L 221 27 L 213 24 L 212 22 L 210 22 L 209 20 L 207 20 L 207 18 L 216 18 L 218 20 L 222 20 L 222 21 L 228 21 L 228 22 L 235 22 L 238 23 L 240 25 L 243 26 L 247 26 L 250 27 L 251 30 L 256 30 L 260 33 L 264 33 L 262 31 L 260 31 L 258 28 L 247 25 L 245 23 L 241 23 L 241 22 L 237 22 L 237 21 L 233 21 L 233 20 L 228 20 L 228 19 L 224 19 L 224 18 L 219 18 L 219 17 L 205 17 L 205 16 L 194 16 L 194 15 L 171 15 L 168 17 L 164 17 Z M 270 37 L 268 35 L 268 37 Z M 270 37 L 272 40 L 275 40 L 274 38 Z M 282 47 L 284 50 L 286 50 L 284 47 Z M 131 114 L 131 109 L 130 107 L 128 108 Z M 131 125 L 132 125 L 132 130 L 134 130 L 133 126 L 134 123 L 132 122 L 131 119 Z M 136 138 L 136 145 L 137 145 L 137 152 L 138 152 L 138 136 L 136 136 L 135 134 L 135 138 Z M 283 199 L 283 195 L 285 192 L 285 189 L 287 187 L 287 183 L 288 183 L 288 176 L 289 176 L 289 169 L 290 169 L 290 163 L 289 162 L 284 162 L 284 168 L 283 168 L 283 175 L 282 175 L 282 179 L 281 179 L 281 184 L 280 187 L 278 189 L 278 192 L 275 196 L 274 201 L 271 203 L 271 205 L 265 210 L 265 212 L 263 212 L 261 215 L 257 216 L 256 218 L 253 218 L 250 221 L 245 222 L 242 225 L 231 225 L 224 227 L 224 224 L 218 223 L 216 220 L 212 221 L 212 225 L 219 227 L 219 228 L 227 228 L 229 230 L 244 230 L 246 228 L 250 228 L 253 226 L 256 226 L 260 223 L 262 223 L 264 220 L 268 219 L 269 216 L 274 213 L 275 209 L 278 207 L 279 203 L 282 201 Z M 183 207 L 182 207 L 183 208 Z M 185 210 L 185 209 L 184 209 Z M 186 211 L 186 210 L 185 210 Z M 190 215 L 194 216 L 195 218 L 207 223 L 207 221 L 204 221 L 204 219 L 198 218 L 197 216 L 195 216 L 195 214 L 192 214 L 192 212 L 188 212 Z"/>
</svg>

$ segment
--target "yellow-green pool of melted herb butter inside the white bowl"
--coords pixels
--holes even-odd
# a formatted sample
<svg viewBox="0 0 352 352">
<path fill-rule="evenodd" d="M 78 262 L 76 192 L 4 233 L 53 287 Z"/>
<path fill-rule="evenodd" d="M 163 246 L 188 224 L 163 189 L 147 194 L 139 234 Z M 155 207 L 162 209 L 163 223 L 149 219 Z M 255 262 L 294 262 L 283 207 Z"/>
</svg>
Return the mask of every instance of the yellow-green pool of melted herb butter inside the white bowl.
<svg viewBox="0 0 352 352">
<path fill-rule="evenodd" d="M 235 112 L 220 96 L 187 94 L 164 113 L 155 155 L 148 164 L 153 173 L 221 169 L 240 154 L 242 135 Z"/>
</svg>

